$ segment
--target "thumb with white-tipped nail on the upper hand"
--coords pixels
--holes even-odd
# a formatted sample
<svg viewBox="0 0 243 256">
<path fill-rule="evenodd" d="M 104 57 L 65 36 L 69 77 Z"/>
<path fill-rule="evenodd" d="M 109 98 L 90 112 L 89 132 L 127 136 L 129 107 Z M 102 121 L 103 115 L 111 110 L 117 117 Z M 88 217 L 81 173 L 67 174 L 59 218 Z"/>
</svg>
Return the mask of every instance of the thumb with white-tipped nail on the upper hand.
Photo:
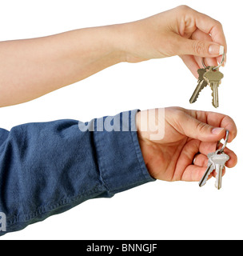
<svg viewBox="0 0 243 256">
<path fill-rule="evenodd" d="M 224 54 L 225 50 L 224 46 L 210 41 L 181 38 L 179 43 L 178 49 L 181 51 L 181 54 L 178 55 L 188 54 L 205 58 L 216 58 Z"/>
</svg>

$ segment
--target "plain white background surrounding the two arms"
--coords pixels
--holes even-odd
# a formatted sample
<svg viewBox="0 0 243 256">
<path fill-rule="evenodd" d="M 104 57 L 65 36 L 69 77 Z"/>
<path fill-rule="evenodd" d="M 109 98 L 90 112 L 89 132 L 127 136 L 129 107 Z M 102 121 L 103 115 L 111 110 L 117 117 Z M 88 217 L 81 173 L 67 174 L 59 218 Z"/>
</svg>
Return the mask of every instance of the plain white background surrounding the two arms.
<svg viewBox="0 0 243 256">
<path fill-rule="evenodd" d="M 240 2 L 1 0 L 1 41 L 130 22 L 181 4 L 208 14 L 222 23 L 228 43 L 227 63 L 221 68 L 225 78 L 219 88 L 220 107 L 216 111 L 229 114 L 238 128 L 237 138 L 229 145 L 238 155 L 238 164 L 226 170 L 219 191 L 214 187 L 214 178 L 203 188 L 197 182 L 150 182 L 114 198 L 84 202 L 1 239 L 242 239 Z M 62 118 L 89 121 L 137 108 L 181 106 L 215 111 L 209 87 L 201 92 L 196 103 L 189 104 L 196 84 L 197 80 L 178 57 L 121 63 L 32 102 L 0 109 L 1 127 L 10 130 L 26 122 Z"/>
</svg>

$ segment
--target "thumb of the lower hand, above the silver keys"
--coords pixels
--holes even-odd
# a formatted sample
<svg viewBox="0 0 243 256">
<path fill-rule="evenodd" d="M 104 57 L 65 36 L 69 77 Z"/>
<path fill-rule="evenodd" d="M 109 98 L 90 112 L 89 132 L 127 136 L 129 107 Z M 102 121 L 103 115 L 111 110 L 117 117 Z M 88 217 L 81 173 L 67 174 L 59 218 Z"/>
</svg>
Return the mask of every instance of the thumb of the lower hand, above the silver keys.
<svg viewBox="0 0 243 256">
<path fill-rule="evenodd" d="M 187 118 L 182 118 L 179 125 L 181 126 L 181 134 L 185 134 L 189 138 L 199 139 L 201 142 L 216 142 L 225 138 L 225 128 L 209 126 L 189 115 Z"/>
</svg>

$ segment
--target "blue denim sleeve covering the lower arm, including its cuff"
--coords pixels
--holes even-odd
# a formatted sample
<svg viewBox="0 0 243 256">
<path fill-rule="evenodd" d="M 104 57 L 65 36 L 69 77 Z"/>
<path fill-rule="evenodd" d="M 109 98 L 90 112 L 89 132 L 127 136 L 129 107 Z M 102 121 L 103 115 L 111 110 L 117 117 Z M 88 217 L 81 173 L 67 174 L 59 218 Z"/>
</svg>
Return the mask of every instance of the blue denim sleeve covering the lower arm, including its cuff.
<svg viewBox="0 0 243 256">
<path fill-rule="evenodd" d="M 154 181 L 134 130 L 136 113 L 0 129 L 0 235 Z"/>
</svg>

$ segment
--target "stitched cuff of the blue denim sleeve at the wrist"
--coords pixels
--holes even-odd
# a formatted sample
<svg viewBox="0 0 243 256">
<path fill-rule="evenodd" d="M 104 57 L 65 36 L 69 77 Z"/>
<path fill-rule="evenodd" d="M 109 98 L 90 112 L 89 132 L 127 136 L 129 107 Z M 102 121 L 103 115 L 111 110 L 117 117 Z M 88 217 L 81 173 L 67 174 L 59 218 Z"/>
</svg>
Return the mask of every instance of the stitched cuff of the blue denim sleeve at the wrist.
<svg viewBox="0 0 243 256">
<path fill-rule="evenodd" d="M 98 166 L 102 181 L 111 194 L 155 181 L 149 175 L 141 154 L 136 114 L 137 110 L 132 110 L 96 120 L 96 128 L 98 123 L 104 124 L 102 132 L 94 131 Z"/>
</svg>

